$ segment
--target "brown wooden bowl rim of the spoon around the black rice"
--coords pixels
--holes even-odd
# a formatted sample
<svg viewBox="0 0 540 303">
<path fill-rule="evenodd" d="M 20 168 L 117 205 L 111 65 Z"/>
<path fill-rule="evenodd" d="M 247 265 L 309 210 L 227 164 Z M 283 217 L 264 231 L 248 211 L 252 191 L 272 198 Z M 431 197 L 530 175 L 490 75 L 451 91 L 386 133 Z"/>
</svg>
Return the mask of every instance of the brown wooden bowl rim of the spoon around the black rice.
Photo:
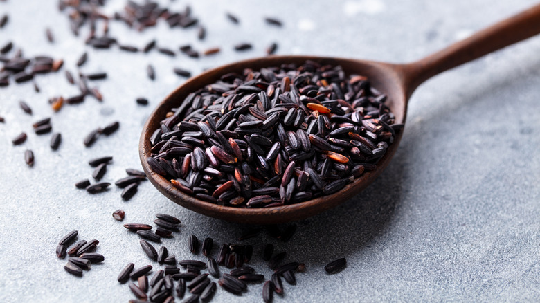
<svg viewBox="0 0 540 303">
<path fill-rule="evenodd" d="M 397 131 L 394 143 L 388 147 L 386 154 L 377 163 L 377 169 L 365 172 L 359 178 L 355 178 L 354 181 L 346 185 L 343 190 L 302 203 L 273 208 L 233 208 L 202 201 L 194 196 L 184 194 L 180 190 L 177 190 L 170 181 L 153 172 L 147 164 L 146 158 L 150 157 L 150 149 L 152 148 L 150 145 L 150 136 L 152 136 L 153 131 L 160 127 L 159 123 L 163 120 L 165 114 L 170 111 L 171 108 L 179 107 L 181 101 L 192 91 L 200 89 L 205 84 L 219 80 L 219 77 L 226 73 L 242 73 L 246 66 L 253 69 L 260 69 L 270 66 L 279 66 L 283 63 L 301 65 L 306 60 L 312 60 L 319 64 L 330 64 L 332 66 L 341 65 L 345 73 L 356 73 L 367 76 L 374 87 L 388 95 L 385 104 L 390 108 L 390 111 L 395 114 L 395 122 L 404 123 L 406 116 L 406 95 L 403 90 L 404 86 L 401 83 L 402 77 L 399 77 L 398 73 L 398 71 L 400 71 L 400 68 L 398 68 L 399 66 L 354 59 L 307 56 L 276 56 L 235 62 L 206 71 L 197 77 L 192 77 L 168 95 L 168 97 L 165 98 L 165 100 L 163 100 L 150 115 L 150 118 L 143 128 L 140 143 L 141 163 L 150 182 L 162 194 L 174 201 L 174 203 L 195 212 L 227 221 L 257 224 L 284 223 L 311 217 L 314 214 L 318 214 L 319 212 L 323 212 L 347 201 L 370 185 L 370 183 L 375 181 L 375 178 L 381 174 L 388 163 L 390 163 L 390 160 L 397 149 L 397 145 L 399 145 L 399 140 L 402 138 L 403 131 Z"/>
</svg>

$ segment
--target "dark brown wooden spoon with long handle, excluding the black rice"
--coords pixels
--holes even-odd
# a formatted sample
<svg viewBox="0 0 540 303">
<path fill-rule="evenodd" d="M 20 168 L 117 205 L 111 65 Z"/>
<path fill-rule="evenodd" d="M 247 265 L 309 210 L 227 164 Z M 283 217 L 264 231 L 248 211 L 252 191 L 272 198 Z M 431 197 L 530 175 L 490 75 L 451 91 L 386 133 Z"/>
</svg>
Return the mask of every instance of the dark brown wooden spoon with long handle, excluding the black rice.
<svg viewBox="0 0 540 303">
<path fill-rule="evenodd" d="M 450 68 L 477 59 L 487 53 L 492 53 L 495 50 L 527 39 L 538 33 L 540 33 L 540 5 L 525 10 L 514 17 L 505 19 L 465 40 L 440 50 L 438 53 L 409 64 L 390 64 L 332 57 L 276 56 L 249 59 L 214 68 L 188 80 L 168 95 L 154 110 L 145 123 L 139 143 L 139 156 L 143 169 L 152 184 L 162 194 L 185 208 L 206 214 L 210 217 L 240 223 L 270 224 L 296 221 L 313 216 L 347 201 L 375 181 L 375 178 L 390 163 L 402 138 L 403 131 L 397 132 L 394 143 L 388 147 L 385 156 L 377 163 L 377 169 L 364 173 L 361 177 L 356 178 L 354 182 L 344 187 L 343 190 L 302 203 L 274 208 L 233 208 L 208 203 L 195 199 L 193 196 L 183 194 L 183 192 L 172 186 L 170 181 L 154 173 L 148 166 L 146 159 L 150 156 L 150 136 L 152 136 L 155 129 L 160 127 L 160 121 L 165 118 L 165 114 L 172 107 L 179 107 L 181 100 L 184 100 L 190 92 L 219 80 L 221 75 L 233 72 L 242 74 L 244 68 L 258 70 L 269 66 L 280 66 L 280 64 L 284 63 L 301 65 L 306 60 L 313 60 L 321 64 L 330 64 L 333 66 L 341 65 L 345 73 L 366 75 L 374 87 L 388 95 L 386 105 L 395 114 L 395 122 L 404 123 L 408 99 L 422 82 L 438 73 L 442 73 Z"/>
</svg>

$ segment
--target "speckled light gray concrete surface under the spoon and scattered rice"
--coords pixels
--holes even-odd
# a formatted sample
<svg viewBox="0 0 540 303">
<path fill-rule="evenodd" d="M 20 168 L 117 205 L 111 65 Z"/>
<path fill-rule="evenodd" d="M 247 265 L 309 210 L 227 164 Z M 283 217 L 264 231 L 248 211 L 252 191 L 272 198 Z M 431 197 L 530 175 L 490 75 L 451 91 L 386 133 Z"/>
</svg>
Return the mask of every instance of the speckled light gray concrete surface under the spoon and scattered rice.
<svg viewBox="0 0 540 303">
<path fill-rule="evenodd" d="M 107 10 L 124 1 L 109 1 Z M 169 1 L 164 1 L 169 3 Z M 182 83 L 171 66 L 194 73 L 237 59 L 257 57 L 272 41 L 280 54 L 314 54 L 407 62 L 419 59 L 466 37 L 535 1 L 189 1 L 194 14 L 208 27 L 197 42 L 195 30 L 169 30 L 165 24 L 144 33 L 111 24 L 111 35 L 143 46 L 156 37 L 177 48 L 222 46 L 214 57 L 190 59 L 98 51 L 84 47 L 56 10 L 56 1 L 0 2 L 0 15 L 10 21 L 0 30 L 0 44 L 12 40 L 26 55 L 55 54 L 64 69 L 76 71 L 84 51 L 84 72 L 107 71 L 109 79 L 95 82 L 105 95 L 53 113 L 48 98 L 72 95 L 75 86 L 63 71 L 37 77 L 32 84 L 0 89 L 0 301 L 1 302 L 127 302 L 127 285 L 116 282 L 127 264 L 152 264 L 132 235 L 111 213 L 121 208 L 127 222 L 151 222 L 156 212 L 181 218 L 181 233 L 163 244 L 179 259 L 191 258 L 187 236 L 213 237 L 218 244 L 235 241 L 247 228 L 190 212 L 168 201 L 148 182 L 129 202 L 120 190 L 91 196 L 73 184 L 91 177 L 86 163 L 113 155 L 104 181 L 125 176 L 139 167 L 138 137 L 152 108 Z M 183 8 L 186 1 L 171 2 Z M 226 20 L 235 13 L 241 24 Z M 267 26 L 263 16 L 278 16 L 283 28 Z M 57 42 L 48 44 L 44 27 Z M 83 34 L 84 36 L 84 34 Z M 235 53 L 237 42 L 255 48 Z M 297 286 L 285 285 L 274 302 L 532 302 L 540 297 L 540 37 L 534 37 L 426 82 L 413 95 L 408 124 L 393 162 L 368 190 L 352 201 L 298 222 L 289 243 L 267 236 L 250 239 L 253 266 L 267 277 L 260 259 L 262 246 L 276 245 L 287 259 L 303 261 Z M 145 66 L 152 62 L 157 79 L 150 82 Z M 150 106 L 134 99 L 145 96 Z M 26 100 L 28 116 L 18 107 Z M 50 135 L 36 136 L 31 124 L 52 117 L 62 132 L 57 152 L 48 147 Z M 119 120 L 120 130 L 84 148 L 91 129 Z M 10 140 L 28 133 L 24 145 Z M 35 165 L 24 164 L 24 150 L 33 149 Z M 64 272 L 65 260 L 55 257 L 57 241 L 69 230 L 80 239 L 99 239 L 105 262 L 79 279 Z M 323 266 L 346 257 L 348 267 L 328 276 Z M 202 259 L 202 256 L 196 257 Z M 213 302 L 262 302 L 262 284 L 241 297 L 218 289 Z M 178 300 L 177 300 L 178 302 Z"/>
</svg>

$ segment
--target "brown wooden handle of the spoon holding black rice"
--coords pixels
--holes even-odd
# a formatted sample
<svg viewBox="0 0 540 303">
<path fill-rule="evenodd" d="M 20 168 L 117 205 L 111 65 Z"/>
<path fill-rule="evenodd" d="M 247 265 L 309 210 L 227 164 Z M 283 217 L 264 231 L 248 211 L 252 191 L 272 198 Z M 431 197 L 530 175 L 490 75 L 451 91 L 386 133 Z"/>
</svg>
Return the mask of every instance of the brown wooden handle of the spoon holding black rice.
<svg viewBox="0 0 540 303">
<path fill-rule="evenodd" d="M 433 55 L 404 64 L 408 96 L 429 78 L 540 33 L 540 4 L 500 21 Z"/>
</svg>

